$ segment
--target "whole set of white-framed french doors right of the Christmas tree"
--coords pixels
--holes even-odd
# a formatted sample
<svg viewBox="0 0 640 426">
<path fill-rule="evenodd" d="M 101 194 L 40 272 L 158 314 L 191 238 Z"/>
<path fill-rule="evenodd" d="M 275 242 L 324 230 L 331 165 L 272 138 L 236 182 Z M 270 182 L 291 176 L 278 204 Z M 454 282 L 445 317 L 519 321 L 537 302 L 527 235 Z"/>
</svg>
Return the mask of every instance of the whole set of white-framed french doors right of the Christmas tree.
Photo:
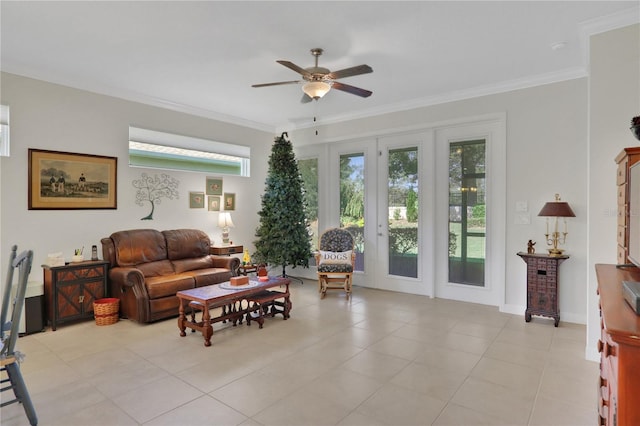
<svg viewBox="0 0 640 426">
<path fill-rule="evenodd" d="M 323 146 L 313 154 L 319 181 L 316 232 L 333 226 L 356 232 L 354 285 L 502 305 L 503 115 Z M 312 155 L 309 148 L 303 151 Z M 452 163 L 458 151 L 464 159 Z M 482 167 L 470 167 L 470 159 Z M 466 171 L 452 173 L 456 167 Z M 460 214 L 451 216 L 452 209 Z"/>
</svg>

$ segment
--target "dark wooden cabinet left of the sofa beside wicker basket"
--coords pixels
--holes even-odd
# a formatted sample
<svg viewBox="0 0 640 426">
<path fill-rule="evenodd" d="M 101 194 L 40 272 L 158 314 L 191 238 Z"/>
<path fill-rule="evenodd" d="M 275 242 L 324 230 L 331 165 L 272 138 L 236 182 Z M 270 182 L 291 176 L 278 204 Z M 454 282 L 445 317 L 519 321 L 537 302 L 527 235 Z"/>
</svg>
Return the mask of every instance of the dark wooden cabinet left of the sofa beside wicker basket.
<svg viewBox="0 0 640 426">
<path fill-rule="evenodd" d="M 47 317 L 58 323 L 93 318 L 93 301 L 107 297 L 109 262 L 86 261 L 61 266 L 42 265 Z"/>
</svg>

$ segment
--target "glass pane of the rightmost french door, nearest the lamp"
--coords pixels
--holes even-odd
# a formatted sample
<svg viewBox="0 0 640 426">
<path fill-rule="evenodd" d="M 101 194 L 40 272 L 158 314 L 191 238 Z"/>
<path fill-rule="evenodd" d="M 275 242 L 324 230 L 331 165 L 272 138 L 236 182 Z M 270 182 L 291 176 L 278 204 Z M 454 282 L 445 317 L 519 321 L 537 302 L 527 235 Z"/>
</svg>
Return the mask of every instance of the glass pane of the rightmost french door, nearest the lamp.
<svg viewBox="0 0 640 426">
<path fill-rule="evenodd" d="M 450 144 L 449 282 L 484 287 L 485 141 Z"/>
</svg>

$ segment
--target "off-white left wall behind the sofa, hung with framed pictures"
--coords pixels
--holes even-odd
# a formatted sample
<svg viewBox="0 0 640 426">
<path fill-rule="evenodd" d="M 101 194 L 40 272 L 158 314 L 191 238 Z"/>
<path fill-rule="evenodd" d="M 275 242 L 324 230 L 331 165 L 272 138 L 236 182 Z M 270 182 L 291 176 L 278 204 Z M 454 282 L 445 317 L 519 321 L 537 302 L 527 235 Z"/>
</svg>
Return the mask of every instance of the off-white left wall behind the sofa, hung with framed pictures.
<svg viewBox="0 0 640 426">
<path fill-rule="evenodd" d="M 189 208 L 189 191 L 204 191 L 202 173 L 160 171 L 128 166 L 129 125 L 251 147 L 251 177 L 224 176 L 223 189 L 236 194 L 235 228 L 231 239 L 252 246 L 257 211 L 264 191 L 274 135 L 241 126 L 146 106 L 12 74 L 1 75 L 2 104 L 11 110 L 11 156 L 0 160 L 0 268 L 6 273 L 11 245 L 33 249 L 32 280 L 41 280 L 47 254 L 63 252 L 69 260 L 75 248 L 85 255 L 100 239 L 132 228 L 198 228 L 218 243 L 217 213 Z M 118 158 L 117 210 L 28 210 L 27 150 L 29 148 L 113 156 Z M 179 199 L 162 199 L 153 220 L 140 220 L 150 207 L 135 204 L 132 181 L 141 173 L 168 173 L 180 181 Z M 213 175 L 215 176 L 215 175 Z"/>
</svg>

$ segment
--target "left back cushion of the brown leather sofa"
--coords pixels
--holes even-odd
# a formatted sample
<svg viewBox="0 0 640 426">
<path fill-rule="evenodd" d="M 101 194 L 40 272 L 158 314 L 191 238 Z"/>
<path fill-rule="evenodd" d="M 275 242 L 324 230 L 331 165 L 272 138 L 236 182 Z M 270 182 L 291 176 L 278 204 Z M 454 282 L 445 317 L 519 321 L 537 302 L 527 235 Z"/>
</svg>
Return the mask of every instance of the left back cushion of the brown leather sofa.
<svg viewBox="0 0 640 426">
<path fill-rule="evenodd" d="M 155 229 L 133 229 L 111 234 L 118 266 L 136 266 L 167 258 L 164 235 Z"/>
</svg>

